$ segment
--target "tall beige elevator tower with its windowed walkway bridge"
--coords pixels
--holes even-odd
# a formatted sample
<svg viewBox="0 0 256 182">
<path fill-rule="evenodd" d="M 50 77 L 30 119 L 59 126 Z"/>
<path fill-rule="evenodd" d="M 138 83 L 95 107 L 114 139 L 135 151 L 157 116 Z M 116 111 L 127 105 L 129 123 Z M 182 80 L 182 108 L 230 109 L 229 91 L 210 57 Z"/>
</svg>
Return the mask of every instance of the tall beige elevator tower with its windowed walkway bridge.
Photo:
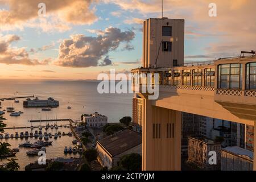
<svg viewBox="0 0 256 182">
<path fill-rule="evenodd" d="M 138 92 L 134 97 L 142 105 L 143 170 L 181 169 L 181 112 L 252 126 L 256 121 L 255 51 L 184 64 L 176 58 L 184 57 L 180 45 L 184 45 L 184 20 L 144 21 L 143 64 L 131 70 L 132 90 Z M 141 73 L 159 75 L 158 82 L 150 79 L 159 88 L 155 100 L 149 97 L 154 93 L 142 92 L 141 83 L 150 80 L 142 80 Z"/>
</svg>

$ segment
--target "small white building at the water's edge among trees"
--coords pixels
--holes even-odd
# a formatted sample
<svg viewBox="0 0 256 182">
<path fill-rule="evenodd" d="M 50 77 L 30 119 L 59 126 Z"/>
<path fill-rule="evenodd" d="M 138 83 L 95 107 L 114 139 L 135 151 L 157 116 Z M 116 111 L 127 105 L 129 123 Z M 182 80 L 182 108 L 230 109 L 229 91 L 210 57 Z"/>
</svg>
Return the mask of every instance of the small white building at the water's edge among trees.
<svg viewBox="0 0 256 182">
<path fill-rule="evenodd" d="M 82 121 L 89 127 L 103 127 L 108 124 L 108 117 L 95 112 L 94 114 L 84 114 Z"/>
</svg>

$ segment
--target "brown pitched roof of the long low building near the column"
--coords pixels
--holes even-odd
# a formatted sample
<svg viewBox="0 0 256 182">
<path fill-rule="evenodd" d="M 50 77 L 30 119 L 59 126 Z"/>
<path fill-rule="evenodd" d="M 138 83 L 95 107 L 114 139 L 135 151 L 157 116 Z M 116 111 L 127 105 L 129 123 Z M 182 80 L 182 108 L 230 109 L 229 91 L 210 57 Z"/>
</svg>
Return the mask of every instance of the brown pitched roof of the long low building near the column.
<svg viewBox="0 0 256 182">
<path fill-rule="evenodd" d="M 141 144 L 142 135 L 136 131 L 125 129 L 98 140 L 97 143 L 111 156 L 115 156 Z"/>
</svg>

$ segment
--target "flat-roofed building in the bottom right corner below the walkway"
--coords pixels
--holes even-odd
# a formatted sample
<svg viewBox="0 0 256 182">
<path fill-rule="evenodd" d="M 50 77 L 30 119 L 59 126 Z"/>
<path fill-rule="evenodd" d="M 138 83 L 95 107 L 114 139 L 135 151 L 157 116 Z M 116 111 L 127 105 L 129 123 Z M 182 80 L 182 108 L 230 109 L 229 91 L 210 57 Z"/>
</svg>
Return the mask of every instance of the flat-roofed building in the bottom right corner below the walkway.
<svg viewBox="0 0 256 182">
<path fill-rule="evenodd" d="M 252 171 L 253 152 L 234 146 L 221 150 L 221 171 Z"/>
</svg>

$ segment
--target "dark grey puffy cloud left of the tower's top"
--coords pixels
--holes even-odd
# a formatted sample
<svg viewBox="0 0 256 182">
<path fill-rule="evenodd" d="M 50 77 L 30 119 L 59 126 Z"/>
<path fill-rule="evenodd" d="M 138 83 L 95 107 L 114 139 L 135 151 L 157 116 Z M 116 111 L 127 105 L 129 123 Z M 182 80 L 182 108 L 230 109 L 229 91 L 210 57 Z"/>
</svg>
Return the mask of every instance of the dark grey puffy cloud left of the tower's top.
<svg viewBox="0 0 256 182">
<path fill-rule="evenodd" d="M 62 67 L 86 68 L 96 67 L 102 57 L 119 47 L 120 43 L 130 43 L 135 34 L 133 31 L 121 31 L 119 28 L 106 28 L 102 34 L 96 37 L 81 34 L 71 35 L 70 39 L 64 39 L 59 46 L 59 56 L 56 65 Z M 104 64 L 111 60 L 105 57 Z M 102 63 L 100 63 L 102 65 Z"/>
</svg>

